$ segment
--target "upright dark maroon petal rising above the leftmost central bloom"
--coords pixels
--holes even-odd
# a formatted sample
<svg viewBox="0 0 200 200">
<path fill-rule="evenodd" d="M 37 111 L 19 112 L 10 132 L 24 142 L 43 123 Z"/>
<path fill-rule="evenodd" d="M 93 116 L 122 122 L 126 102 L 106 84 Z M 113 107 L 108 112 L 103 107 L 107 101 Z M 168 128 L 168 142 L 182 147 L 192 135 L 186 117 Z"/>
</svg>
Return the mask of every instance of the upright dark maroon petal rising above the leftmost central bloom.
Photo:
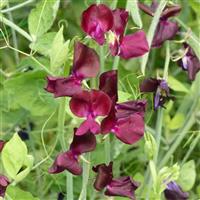
<svg viewBox="0 0 200 200">
<path fill-rule="evenodd" d="M 73 74 L 80 80 L 97 76 L 99 72 L 99 56 L 96 51 L 76 42 L 74 47 Z"/>
</svg>

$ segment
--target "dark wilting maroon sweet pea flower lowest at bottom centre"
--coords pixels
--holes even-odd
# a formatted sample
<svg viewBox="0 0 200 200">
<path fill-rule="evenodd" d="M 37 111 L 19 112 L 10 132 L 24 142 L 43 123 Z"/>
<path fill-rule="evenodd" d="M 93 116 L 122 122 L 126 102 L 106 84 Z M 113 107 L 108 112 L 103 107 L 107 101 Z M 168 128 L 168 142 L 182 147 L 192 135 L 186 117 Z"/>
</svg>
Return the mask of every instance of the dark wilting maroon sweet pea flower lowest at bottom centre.
<svg viewBox="0 0 200 200">
<path fill-rule="evenodd" d="M 113 178 L 112 165 L 113 163 L 110 162 L 108 166 L 99 164 L 92 168 L 97 173 L 94 188 L 97 191 L 105 189 L 104 194 L 107 196 L 128 197 L 134 200 L 134 192 L 139 184 L 129 176 Z"/>
</svg>

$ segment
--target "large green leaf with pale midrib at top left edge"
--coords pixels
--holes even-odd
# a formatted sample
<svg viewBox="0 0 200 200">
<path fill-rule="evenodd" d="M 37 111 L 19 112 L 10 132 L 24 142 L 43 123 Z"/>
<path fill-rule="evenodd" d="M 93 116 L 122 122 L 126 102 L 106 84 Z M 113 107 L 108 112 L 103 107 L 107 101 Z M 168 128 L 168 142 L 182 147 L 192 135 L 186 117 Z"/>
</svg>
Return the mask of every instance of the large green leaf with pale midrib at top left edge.
<svg viewBox="0 0 200 200">
<path fill-rule="evenodd" d="M 59 0 L 41 0 L 36 8 L 31 10 L 28 17 L 28 28 L 33 41 L 51 28 L 56 18 L 59 2 Z"/>
</svg>

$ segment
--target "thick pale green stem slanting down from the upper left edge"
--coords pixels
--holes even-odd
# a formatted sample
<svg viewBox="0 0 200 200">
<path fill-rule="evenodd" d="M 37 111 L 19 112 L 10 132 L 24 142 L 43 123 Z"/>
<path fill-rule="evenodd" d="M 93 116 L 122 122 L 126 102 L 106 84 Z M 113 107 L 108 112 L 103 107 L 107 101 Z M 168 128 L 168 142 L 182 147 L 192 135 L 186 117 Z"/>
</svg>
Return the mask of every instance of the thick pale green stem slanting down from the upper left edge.
<svg viewBox="0 0 200 200">
<path fill-rule="evenodd" d="M 27 40 L 29 40 L 30 42 L 33 42 L 32 37 L 26 31 L 21 29 L 19 26 L 17 26 L 16 24 L 11 22 L 10 20 L 3 17 L 3 15 L 1 15 L 1 14 L 0 14 L 0 22 L 4 23 L 7 26 L 10 26 L 12 29 L 14 29 L 15 31 L 20 33 L 22 36 L 24 36 Z"/>
</svg>

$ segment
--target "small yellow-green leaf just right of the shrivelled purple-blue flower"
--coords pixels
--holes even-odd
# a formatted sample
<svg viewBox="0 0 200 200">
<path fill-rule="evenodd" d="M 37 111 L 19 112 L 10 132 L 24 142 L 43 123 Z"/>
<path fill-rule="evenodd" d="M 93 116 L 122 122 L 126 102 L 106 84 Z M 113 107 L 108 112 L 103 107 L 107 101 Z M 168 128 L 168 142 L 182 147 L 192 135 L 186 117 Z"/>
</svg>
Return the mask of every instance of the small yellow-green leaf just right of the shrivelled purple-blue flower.
<svg viewBox="0 0 200 200">
<path fill-rule="evenodd" d="M 185 92 L 185 93 L 189 92 L 188 88 L 185 87 L 183 83 L 181 83 L 180 81 L 178 81 L 172 76 L 168 77 L 168 84 L 169 84 L 169 87 L 174 91 Z"/>
</svg>

